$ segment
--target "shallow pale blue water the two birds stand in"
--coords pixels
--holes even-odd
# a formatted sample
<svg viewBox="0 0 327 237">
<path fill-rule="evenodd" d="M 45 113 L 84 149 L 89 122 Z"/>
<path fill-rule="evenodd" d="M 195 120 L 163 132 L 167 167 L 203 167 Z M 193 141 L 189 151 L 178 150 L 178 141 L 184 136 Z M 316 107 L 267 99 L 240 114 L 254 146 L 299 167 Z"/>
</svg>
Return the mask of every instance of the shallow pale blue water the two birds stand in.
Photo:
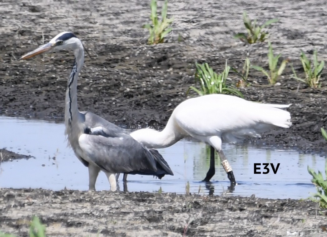
<svg viewBox="0 0 327 237">
<path fill-rule="evenodd" d="M 14 160 L 1 163 L 0 187 L 44 188 L 60 190 L 88 189 L 88 170 L 67 147 L 64 124 L 46 121 L 0 117 L 0 147 L 32 155 L 35 159 Z M 216 160 L 216 174 L 211 185 L 199 182 L 209 168 L 209 149 L 201 142 L 182 140 L 175 145 L 159 149 L 174 172 L 162 180 L 152 176 L 129 175 L 128 191 L 185 193 L 190 182 L 190 192 L 216 195 L 255 194 L 261 198 L 307 198 L 315 187 L 310 182 L 307 166 L 322 170 L 325 158 L 317 155 L 299 154 L 294 150 L 272 150 L 250 146 L 223 144 L 223 151 L 229 160 L 238 185 L 228 191 L 227 175 Z M 274 174 L 269 167 L 268 174 L 253 174 L 254 163 L 273 163 L 278 171 Z M 261 166 L 261 172 L 263 172 Z M 122 175 L 119 178 L 123 190 Z M 103 172 L 96 182 L 97 190 L 108 190 L 109 182 Z"/>
</svg>

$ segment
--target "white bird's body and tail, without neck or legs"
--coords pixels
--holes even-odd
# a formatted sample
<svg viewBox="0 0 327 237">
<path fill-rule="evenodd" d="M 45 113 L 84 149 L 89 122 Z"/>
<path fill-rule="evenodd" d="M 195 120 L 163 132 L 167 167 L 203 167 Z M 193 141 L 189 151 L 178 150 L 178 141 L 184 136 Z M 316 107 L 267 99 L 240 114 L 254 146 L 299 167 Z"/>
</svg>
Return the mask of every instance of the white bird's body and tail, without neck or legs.
<svg viewBox="0 0 327 237">
<path fill-rule="evenodd" d="M 260 136 L 258 133 L 274 126 L 289 127 L 290 113 L 277 106 L 213 94 L 182 102 L 172 116 L 191 136 L 221 135 L 227 142 L 237 142 L 242 136 Z"/>
</svg>

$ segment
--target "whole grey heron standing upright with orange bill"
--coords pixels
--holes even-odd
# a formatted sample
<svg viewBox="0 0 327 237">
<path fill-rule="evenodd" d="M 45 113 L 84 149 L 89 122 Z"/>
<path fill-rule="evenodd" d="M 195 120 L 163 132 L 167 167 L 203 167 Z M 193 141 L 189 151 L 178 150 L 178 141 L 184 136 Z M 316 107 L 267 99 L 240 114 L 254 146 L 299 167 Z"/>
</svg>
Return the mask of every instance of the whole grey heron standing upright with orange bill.
<svg viewBox="0 0 327 237">
<path fill-rule="evenodd" d="M 115 173 L 154 175 L 159 179 L 173 175 L 157 150 L 146 148 L 120 127 L 91 112 L 78 111 L 77 77 L 84 64 L 84 49 L 73 33 L 62 32 L 20 59 L 59 50 L 72 50 L 75 55 L 66 89 L 65 134 L 77 158 L 88 167 L 89 190 L 95 190 L 100 170 L 105 172 L 112 191 L 116 190 Z"/>
</svg>

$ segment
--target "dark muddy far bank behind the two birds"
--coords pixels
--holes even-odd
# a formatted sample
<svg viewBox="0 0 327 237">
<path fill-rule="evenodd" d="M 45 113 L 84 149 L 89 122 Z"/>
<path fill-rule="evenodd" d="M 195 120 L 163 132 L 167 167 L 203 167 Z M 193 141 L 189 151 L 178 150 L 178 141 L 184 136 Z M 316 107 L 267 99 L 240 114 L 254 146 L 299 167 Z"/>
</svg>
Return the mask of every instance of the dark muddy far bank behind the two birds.
<svg viewBox="0 0 327 237">
<path fill-rule="evenodd" d="M 243 32 L 243 10 L 259 22 L 277 17 L 269 27 L 274 52 L 294 64 L 299 77 L 299 55 L 318 50 L 326 59 L 327 18 L 324 1 L 175 1 L 168 14 L 175 17 L 166 43 L 146 45 L 148 1 L 2 1 L 0 3 L 0 114 L 63 120 L 66 80 L 72 53 L 39 56 L 16 61 L 63 30 L 74 32 L 89 49 L 78 83 L 80 110 L 89 110 L 116 123 L 138 128 L 163 128 L 172 110 L 185 99 L 194 84 L 194 63 L 208 62 L 221 71 L 225 60 L 241 68 L 249 57 L 267 69 L 267 43 L 246 45 L 233 39 Z M 161 4 L 161 3 L 160 3 Z M 138 17 L 135 17 L 135 16 Z M 69 20 L 67 20 L 69 18 Z M 305 22 L 306 27 L 303 27 Z M 179 37 L 180 36 L 180 37 Z M 182 39 L 179 40 L 178 39 Z M 232 83 L 238 80 L 230 74 Z M 267 86 L 267 78 L 251 70 L 252 86 L 242 89 L 248 100 L 292 103 L 293 126 L 264 134 L 254 143 L 297 146 L 302 151 L 320 152 L 326 146 L 320 127 L 327 127 L 326 72 L 322 87 L 310 89 L 292 78 L 290 67 L 280 86 Z"/>
</svg>

